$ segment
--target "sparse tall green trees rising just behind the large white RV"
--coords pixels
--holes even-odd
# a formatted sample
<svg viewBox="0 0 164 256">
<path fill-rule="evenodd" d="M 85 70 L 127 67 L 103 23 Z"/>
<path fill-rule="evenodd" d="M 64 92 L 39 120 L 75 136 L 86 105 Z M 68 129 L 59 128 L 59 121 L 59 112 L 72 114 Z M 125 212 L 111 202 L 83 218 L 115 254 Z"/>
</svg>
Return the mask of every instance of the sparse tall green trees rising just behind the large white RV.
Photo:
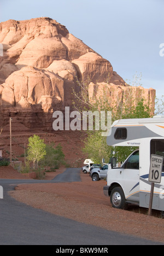
<svg viewBox="0 0 164 256">
<path fill-rule="evenodd" d="M 128 83 L 131 86 L 142 86 L 140 84 L 141 74 L 134 75 L 133 81 Z M 90 98 L 89 96 L 89 86 L 91 80 L 87 79 L 85 82 L 79 81 L 78 84 L 80 86 L 80 93 L 76 93 L 73 91 L 73 95 L 75 97 L 75 101 L 73 102 L 74 108 L 76 108 L 79 112 L 89 111 L 95 112 L 98 110 L 99 113 L 101 111 L 111 112 L 112 113 L 112 123 L 115 120 L 119 119 L 130 119 L 130 118 L 150 118 L 156 114 L 160 114 L 164 110 L 164 102 L 163 98 L 161 100 L 154 99 L 154 102 L 150 102 L 148 98 L 145 98 L 142 94 L 138 94 L 138 97 L 133 95 L 132 88 L 124 95 L 124 98 L 120 99 L 113 97 L 109 97 L 110 91 L 108 86 L 104 86 L 102 91 L 102 95 L 97 96 L 96 86 L 95 86 L 95 97 Z M 96 119 L 95 119 L 96 120 Z M 107 124 L 107 122 L 106 122 Z M 96 125 L 96 124 L 95 124 Z M 105 158 L 106 162 L 109 162 L 110 157 L 115 154 L 118 161 L 124 161 L 128 155 L 130 155 L 133 150 L 137 149 L 136 147 L 109 147 L 107 145 L 107 137 L 102 136 L 102 130 L 97 131 L 93 129 L 93 131 L 87 131 L 87 136 L 84 141 L 84 153 L 87 154 L 89 159 L 92 159 L 95 163 L 101 164 L 102 158 Z"/>
</svg>

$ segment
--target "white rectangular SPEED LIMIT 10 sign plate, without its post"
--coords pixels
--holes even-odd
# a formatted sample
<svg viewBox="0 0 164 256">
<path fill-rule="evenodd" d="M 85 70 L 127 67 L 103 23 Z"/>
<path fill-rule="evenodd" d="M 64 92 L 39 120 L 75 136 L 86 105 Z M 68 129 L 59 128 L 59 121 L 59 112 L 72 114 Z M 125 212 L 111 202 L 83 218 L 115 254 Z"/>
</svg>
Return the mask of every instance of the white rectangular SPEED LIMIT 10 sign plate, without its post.
<svg viewBox="0 0 164 256">
<path fill-rule="evenodd" d="M 161 183 L 163 156 L 151 155 L 149 182 Z"/>
</svg>

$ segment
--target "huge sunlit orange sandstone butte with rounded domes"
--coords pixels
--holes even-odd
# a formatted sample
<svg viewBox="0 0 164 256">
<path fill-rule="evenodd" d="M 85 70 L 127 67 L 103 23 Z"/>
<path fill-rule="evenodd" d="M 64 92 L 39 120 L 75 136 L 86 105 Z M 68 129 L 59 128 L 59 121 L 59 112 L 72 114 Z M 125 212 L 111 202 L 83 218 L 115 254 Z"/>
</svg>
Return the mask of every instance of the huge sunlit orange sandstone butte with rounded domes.
<svg viewBox="0 0 164 256">
<path fill-rule="evenodd" d="M 80 90 L 77 79 L 88 77 L 91 100 L 108 89 L 109 101 L 113 98 L 118 104 L 130 91 L 134 98 L 145 96 L 154 104 L 154 89 L 126 84 L 108 60 L 56 20 L 1 22 L 0 43 L 0 126 L 12 116 L 29 128 L 46 127 L 55 110 L 73 107 L 72 90 Z"/>
</svg>

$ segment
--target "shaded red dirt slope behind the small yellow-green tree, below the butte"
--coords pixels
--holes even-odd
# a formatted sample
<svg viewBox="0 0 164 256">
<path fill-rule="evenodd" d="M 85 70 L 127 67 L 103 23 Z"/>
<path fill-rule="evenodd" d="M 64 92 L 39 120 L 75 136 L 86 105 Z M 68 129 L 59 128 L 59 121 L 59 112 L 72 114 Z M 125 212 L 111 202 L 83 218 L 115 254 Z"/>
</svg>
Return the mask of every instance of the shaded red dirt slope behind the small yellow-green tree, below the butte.
<svg viewBox="0 0 164 256">
<path fill-rule="evenodd" d="M 14 123 L 15 122 L 15 123 Z M 28 138 L 34 134 L 40 139 L 44 139 L 45 144 L 54 143 L 55 146 L 61 145 L 67 166 L 83 166 L 85 155 L 81 152 L 86 133 L 83 131 L 51 131 L 45 132 L 44 129 L 30 130 L 23 124 L 12 122 L 11 152 L 12 158 L 24 163 L 26 159 L 26 149 Z M 10 159 L 10 128 L 9 124 L 3 127 L 0 136 L 0 149 L 3 149 L 2 156 Z"/>
</svg>

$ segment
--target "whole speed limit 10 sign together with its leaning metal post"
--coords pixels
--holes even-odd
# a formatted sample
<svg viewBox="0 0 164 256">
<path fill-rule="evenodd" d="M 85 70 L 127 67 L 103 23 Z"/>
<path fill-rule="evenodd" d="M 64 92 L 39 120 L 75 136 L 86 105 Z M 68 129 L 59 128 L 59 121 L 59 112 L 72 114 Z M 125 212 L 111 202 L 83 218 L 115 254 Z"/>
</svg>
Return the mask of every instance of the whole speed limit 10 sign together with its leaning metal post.
<svg viewBox="0 0 164 256">
<path fill-rule="evenodd" d="M 151 161 L 150 161 L 150 170 L 149 170 L 149 182 L 151 182 L 149 212 L 148 212 L 149 216 L 151 215 L 151 209 L 153 204 L 154 183 L 161 183 L 162 166 L 163 166 L 163 156 L 152 154 Z"/>
</svg>

